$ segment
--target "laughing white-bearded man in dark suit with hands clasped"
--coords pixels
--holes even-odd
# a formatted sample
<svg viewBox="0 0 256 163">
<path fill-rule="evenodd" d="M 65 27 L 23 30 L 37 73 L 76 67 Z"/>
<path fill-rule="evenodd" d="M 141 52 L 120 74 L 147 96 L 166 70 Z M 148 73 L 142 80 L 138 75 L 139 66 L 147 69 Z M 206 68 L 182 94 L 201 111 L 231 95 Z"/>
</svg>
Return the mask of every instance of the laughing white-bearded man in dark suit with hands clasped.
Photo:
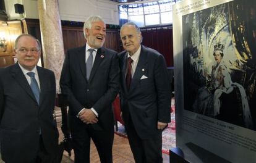
<svg viewBox="0 0 256 163">
<path fill-rule="evenodd" d="M 69 49 L 61 72 L 61 90 L 69 102 L 75 162 L 90 162 L 90 139 L 101 162 L 113 162 L 112 102 L 119 90 L 117 54 L 103 48 L 106 25 L 99 16 L 85 21 L 85 46 Z"/>
</svg>

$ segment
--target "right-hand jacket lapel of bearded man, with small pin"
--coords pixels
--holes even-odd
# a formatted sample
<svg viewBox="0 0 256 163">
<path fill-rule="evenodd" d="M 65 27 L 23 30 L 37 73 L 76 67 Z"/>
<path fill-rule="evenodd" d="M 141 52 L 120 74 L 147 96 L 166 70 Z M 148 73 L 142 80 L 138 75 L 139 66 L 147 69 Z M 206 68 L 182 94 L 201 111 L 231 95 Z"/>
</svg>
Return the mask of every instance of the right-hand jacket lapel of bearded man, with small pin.
<svg viewBox="0 0 256 163">
<path fill-rule="evenodd" d="M 104 58 L 105 58 L 105 50 L 103 48 L 98 49 L 88 82 L 92 81 L 93 76 L 95 75 L 98 67 L 100 66 Z"/>
</svg>

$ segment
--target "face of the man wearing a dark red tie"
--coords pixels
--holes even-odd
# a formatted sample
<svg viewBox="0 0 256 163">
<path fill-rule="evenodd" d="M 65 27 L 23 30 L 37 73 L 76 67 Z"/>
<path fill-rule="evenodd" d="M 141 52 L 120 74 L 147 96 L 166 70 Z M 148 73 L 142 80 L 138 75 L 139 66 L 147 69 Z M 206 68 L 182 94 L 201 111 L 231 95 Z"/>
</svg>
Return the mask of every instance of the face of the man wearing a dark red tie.
<svg viewBox="0 0 256 163">
<path fill-rule="evenodd" d="M 140 48 L 142 35 L 133 25 L 125 25 L 120 31 L 122 46 L 132 56 Z"/>
</svg>

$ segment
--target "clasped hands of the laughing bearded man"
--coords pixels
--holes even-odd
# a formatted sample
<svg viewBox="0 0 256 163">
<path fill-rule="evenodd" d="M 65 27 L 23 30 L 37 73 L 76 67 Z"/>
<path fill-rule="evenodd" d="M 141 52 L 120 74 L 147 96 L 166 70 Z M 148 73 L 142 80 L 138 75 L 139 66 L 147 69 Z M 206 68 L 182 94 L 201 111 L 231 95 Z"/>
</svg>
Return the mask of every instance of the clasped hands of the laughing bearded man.
<svg viewBox="0 0 256 163">
<path fill-rule="evenodd" d="M 97 123 L 98 119 L 96 115 L 93 113 L 91 109 L 83 109 L 82 112 L 79 114 L 79 119 L 82 120 L 83 123 Z"/>
</svg>

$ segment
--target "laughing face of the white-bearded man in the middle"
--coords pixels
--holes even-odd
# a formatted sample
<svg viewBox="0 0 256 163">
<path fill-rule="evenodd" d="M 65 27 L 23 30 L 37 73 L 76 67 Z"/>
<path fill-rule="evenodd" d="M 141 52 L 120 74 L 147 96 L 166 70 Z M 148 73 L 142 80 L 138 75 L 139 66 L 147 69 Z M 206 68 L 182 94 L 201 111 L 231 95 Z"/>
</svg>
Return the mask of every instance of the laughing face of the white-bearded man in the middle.
<svg viewBox="0 0 256 163">
<path fill-rule="evenodd" d="M 101 48 L 105 42 L 106 25 L 104 22 L 93 22 L 92 28 L 85 29 L 87 35 L 87 43 L 90 47 L 98 49 Z"/>
</svg>

